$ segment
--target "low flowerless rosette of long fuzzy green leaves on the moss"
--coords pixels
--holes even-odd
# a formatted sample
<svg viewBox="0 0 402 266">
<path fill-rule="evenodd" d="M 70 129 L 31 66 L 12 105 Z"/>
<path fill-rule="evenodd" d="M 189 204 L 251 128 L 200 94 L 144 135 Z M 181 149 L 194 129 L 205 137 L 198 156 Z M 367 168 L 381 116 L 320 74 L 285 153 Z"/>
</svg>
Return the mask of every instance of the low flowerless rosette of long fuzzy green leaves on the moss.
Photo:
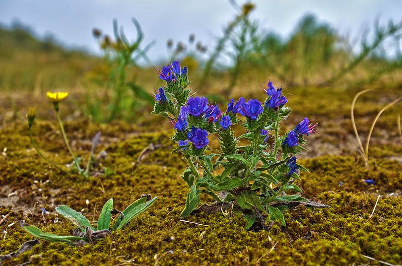
<svg viewBox="0 0 402 266">
<path fill-rule="evenodd" d="M 151 207 L 157 198 L 158 197 L 151 199 L 151 195 L 145 194 L 124 211 L 113 208 L 113 199 L 110 199 L 102 207 L 96 228 L 93 227 L 91 222 L 80 212 L 65 205 L 61 205 L 56 208 L 56 211 L 70 220 L 74 225 L 78 226 L 78 228 L 73 231 L 72 236 L 58 236 L 45 233 L 33 225 L 26 224 L 24 221 L 21 221 L 21 226 L 32 236 L 51 242 L 66 242 L 78 245 L 93 243 L 97 239 L 109 236 L 115 230 L 122 229 L 131 219 Z M 111 226 L 112 214 L 119 214 L 113 226 Z"/>
</svg>

